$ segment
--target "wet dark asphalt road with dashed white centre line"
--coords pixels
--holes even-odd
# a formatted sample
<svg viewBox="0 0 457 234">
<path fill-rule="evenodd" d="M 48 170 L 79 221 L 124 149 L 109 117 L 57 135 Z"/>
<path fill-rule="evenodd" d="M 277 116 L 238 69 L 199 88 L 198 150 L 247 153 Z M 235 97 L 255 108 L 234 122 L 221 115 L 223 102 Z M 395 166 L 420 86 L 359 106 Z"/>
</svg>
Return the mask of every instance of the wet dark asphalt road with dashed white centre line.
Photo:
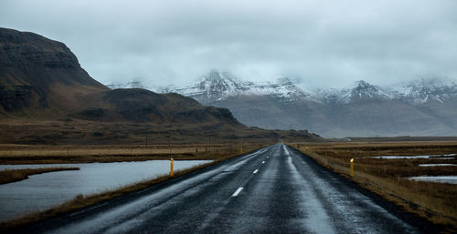
<svg viewBox="0 0 457 234">
<path fill-rule="evenodd" d="M 282 144 L 31 227 L 47 233 L 421 233 Z"/>
</svg>

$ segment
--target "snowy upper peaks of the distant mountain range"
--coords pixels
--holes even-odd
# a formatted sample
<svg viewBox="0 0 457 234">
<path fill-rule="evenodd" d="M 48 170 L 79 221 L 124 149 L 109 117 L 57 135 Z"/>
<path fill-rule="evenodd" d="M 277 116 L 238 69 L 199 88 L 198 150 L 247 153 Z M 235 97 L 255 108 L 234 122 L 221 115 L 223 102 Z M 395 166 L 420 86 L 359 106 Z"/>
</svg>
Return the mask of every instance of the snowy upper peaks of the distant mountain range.
<svg viewBox="0 0 457 234">
<path fill-rule="evenodd" d="M 202 103 L 225 100 L 228 97 L 237 96 L 271 96 L 280 98 L 282 101 L 306 99 L 319 103 L 335 104 L 389 99 L 400 100 L 410 104 L 457 102 L 456 81 L 441 78 L 418 79 L 394 86 L 382 87 L 360 80 L 346 88 L 303 87 L 302 89 L 287 76 L 280 76 L 272 82 L 251 82 L 240 80 L 237 76 L 228 72 L 211 70 L 188 86 L 167 86 L 154 90 L 136 81 L 128 82 L 124 85 L 108 86 L 111 88 L 142 87 L 154 92 L 174 92 L 186 97 L 193 97 Z"/>
</svg>

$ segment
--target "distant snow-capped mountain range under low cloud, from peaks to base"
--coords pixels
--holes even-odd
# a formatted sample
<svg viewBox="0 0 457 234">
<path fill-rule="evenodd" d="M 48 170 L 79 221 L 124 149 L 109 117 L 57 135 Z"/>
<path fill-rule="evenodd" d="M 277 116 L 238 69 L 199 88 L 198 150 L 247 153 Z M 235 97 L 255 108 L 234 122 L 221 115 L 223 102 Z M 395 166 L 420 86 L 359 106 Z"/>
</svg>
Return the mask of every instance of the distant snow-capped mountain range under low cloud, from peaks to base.
<svg viewBox="0 0 457 234">
<path fill-rule="evenodd" d="M 228 107 L 248 126 L 308 129 L 324 137 L 457 135 L 457 84 L 439 79 L 303 90 L 287 78 L 260 84 L 212 71 L 195 85 L 164 90 Z"/>
</svg>

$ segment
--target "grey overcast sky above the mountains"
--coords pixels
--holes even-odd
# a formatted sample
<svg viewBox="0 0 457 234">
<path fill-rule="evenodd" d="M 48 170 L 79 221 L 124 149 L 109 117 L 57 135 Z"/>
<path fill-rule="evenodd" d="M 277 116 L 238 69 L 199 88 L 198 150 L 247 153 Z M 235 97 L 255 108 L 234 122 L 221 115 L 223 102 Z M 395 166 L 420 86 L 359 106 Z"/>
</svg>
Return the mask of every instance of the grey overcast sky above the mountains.
<svg viewBox="0 0 457 234">
<path fill-rule="evenodd" d="M 1 0 L 0 26 L 65 43 L 104 84 L 210 69 L 312 86 L 457 78 L 457 1 Z"/>
</svg>

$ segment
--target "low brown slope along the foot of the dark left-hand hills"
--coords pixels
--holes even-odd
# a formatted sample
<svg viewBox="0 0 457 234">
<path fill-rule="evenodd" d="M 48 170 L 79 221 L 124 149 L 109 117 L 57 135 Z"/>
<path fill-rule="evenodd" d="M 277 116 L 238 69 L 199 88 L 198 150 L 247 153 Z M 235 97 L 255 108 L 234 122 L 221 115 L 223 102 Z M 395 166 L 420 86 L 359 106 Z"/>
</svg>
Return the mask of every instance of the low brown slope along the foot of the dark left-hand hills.
<svg viewBox="0 0 457 234">
<path fill-rule="evenodd" d="M 222 122 L 111 122 L 76 118 L 0 117 L 0 143 L 20 145 L 186 145 L 263 144 L 280 140 L 322 140 L 295 130 L 264 130 Z M 7 133 L 7 134 L 6 134 Z"/>
</svg>

